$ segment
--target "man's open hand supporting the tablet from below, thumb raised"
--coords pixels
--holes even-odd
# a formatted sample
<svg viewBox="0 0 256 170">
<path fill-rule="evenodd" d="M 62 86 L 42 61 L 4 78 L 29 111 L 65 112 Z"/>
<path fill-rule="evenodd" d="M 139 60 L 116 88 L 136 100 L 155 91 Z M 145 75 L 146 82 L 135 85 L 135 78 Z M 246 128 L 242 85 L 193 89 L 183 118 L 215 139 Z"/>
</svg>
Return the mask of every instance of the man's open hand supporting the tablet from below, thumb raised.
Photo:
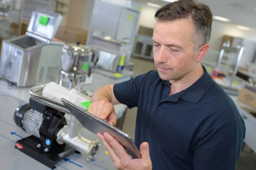
<svg viewBox="0 0 256 170">
<path fill-rule="evenodd" d="M 115 167 L 118 170 L 152 170 L 152 162 L 149 156 L 149 146 L 147 142 L 143 142 L 140 145 L 140 154 L 142 159 L 131 159 L 131 157 L 125 152 L 119 142 L 116 141 L 110 134 L 98 133 L 97 136 L 103 142 L 111 160 L 115 163 Z"/>
</svg>

